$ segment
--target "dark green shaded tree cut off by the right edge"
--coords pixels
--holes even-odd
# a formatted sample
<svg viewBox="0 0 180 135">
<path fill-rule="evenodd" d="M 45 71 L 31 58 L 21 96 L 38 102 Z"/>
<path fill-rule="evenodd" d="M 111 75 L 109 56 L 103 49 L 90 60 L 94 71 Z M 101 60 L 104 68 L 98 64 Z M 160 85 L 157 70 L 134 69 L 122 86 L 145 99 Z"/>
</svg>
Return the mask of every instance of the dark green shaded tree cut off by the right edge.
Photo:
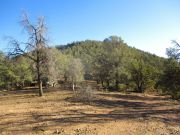
<svg viewBox="0 0 180 135">
<path fill-rule="evenodd" d="M 180 98 L 180 44 L 177 41 L 172 43 L 174 47 L 167 49 L 169 61 L 166 63 L 161 85 L 173 98 Z"/>
</svg>

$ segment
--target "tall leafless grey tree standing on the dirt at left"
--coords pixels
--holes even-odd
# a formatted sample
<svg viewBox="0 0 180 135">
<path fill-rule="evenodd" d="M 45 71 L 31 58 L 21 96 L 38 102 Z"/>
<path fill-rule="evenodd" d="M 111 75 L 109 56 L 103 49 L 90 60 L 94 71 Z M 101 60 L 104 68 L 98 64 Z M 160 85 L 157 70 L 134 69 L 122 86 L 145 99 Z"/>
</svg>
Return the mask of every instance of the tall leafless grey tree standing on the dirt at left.
<svg viewBox="0 0 180 135">
<path fill-rule="evenodd" d="M 26 14 L 23 14 L 21 25 L 28 33 L 27 42 L 19 42 L 15 39 L 10 40 L 12 49 L 9 51 L 9 56 L 23 55 L 32 60 L 35 65 L 37 82 L 39 87 L 39 96 L 43 95 L 42 89 L 42 71 L 46 63 L 47 27 L 44 22 L 44 17 L 38 18 L 37 24 L 32 24 Z"/>
</svg>

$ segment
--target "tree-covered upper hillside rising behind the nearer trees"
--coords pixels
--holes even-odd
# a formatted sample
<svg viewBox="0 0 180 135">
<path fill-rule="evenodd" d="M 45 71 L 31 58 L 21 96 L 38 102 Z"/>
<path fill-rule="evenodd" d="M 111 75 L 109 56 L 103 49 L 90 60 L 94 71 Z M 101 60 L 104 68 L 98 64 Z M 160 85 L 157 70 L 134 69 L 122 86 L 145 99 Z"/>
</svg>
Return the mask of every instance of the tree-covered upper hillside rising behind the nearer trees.
<svg viewBox="0 0 180 135">
<path fill-rule="evenodd" d="M 114 44 L 119 46 L 117 47 L 118 49 L 120 49 L 118 53 L 126 54 L 126 56 L 122 56 L 122 57 L 128 57 L 129 61 L 131 61 L 131 59 L 134 58 L 140 58 L 143 61 L 147 62 L 148 64 L 151 64 L 159 69 L 162 69 L 164 67 L 165 61 L 167 60 L 166 58 L 159 57 L 155 54 L 151 54 L 139 50 L 137 48 L 131 47 L 127 45 L 122 39 L 118 42 L 116 41 L 113 42 L 111 40 L 107 41 L 107 42 L 111 42 L 109 44 L 106 44 L 104 42 L 105 41 L 96 41 L 96 40 L 77 41 L 77 42 L 69 43 L 67 45 L 56 45 L 56 48 L 58 50 L 61 50 L 64 54 L 69 54 L 76 58 L 82 59 L 83 63 L 88 66 L 90 66 L 90 63 L 93 61 L 93 59 L 101 55 L 103 51 L 106 51 L 107 49 L 106 46 L 108 46 L 109 51 L 111 51 L 110 48 L 114 47 Z M 109 53 L 113 54 L 114 52 L 111 51 Z"/>
</svg>

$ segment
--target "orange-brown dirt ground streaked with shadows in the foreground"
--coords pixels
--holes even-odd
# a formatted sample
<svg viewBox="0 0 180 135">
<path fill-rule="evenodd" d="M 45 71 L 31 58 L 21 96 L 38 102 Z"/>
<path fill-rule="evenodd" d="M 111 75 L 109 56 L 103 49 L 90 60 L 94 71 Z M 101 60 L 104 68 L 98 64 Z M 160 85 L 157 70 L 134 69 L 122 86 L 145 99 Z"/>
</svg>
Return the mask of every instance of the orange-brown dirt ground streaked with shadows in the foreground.
<svg viewBox="0 0 180 135">
<path fill-rule="evenodd" d="M 91 102 L 49 89 L 0 93 L 0 134 L 180 135 L 180 102 L 163 96 L 97 92 Z"/>
</svg>

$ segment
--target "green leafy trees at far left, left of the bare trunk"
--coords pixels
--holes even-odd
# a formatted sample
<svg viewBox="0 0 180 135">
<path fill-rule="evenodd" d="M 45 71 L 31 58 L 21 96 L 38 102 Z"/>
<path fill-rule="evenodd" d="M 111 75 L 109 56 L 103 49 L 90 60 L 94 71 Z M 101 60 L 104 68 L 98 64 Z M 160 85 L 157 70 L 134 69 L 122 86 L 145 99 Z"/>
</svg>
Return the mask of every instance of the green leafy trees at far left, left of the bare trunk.
<svg viewBox="0 0 180 135">
<path fill-rule="evenodd" d="M 0 87 L 12 89 L 23 86 L 26 81 L 32 81 L 33 75 L 28 59 L 18 56 L 6 58 L 0 54 Z"/>
</svg>

